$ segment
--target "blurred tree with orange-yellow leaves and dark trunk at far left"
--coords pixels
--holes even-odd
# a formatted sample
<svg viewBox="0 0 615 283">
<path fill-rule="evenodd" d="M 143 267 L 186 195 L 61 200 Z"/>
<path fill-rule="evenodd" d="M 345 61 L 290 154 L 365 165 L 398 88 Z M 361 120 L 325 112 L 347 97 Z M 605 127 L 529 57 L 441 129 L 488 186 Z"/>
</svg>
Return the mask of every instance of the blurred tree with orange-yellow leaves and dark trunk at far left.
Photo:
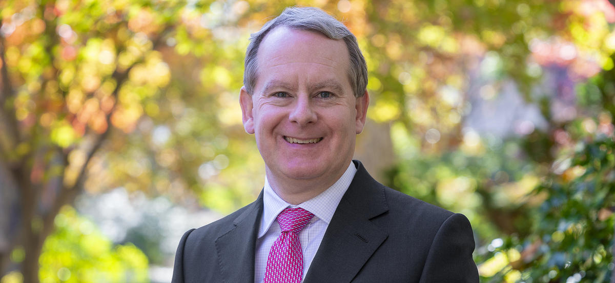
<svg viewBox="0 0 615 283">
<path fill-rule="evenodd" d="M 20 246 L 24 281 L 38 281 L 54 219 L 83 190 L 111 125 L 130 131 L 141 116 L 139 95 L 168 83 L 157 49 L 172 20 L 165 13 L 179 6 L 142 4 L 2 2 L 0 161 L 20 209 L 12 215 L 20 220 L 17 233 L 0 252 L 2 274 Z M 161 11 L 159 17 L 150 9 Z M 153 72 L 144 78 L 146 70 Z"/>
</svg>

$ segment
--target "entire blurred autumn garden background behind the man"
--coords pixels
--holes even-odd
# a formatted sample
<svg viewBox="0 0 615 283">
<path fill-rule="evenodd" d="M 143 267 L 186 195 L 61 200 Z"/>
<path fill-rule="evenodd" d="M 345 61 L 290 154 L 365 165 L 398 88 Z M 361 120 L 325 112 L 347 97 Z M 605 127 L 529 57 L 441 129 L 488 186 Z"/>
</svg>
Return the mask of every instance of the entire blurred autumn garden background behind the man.
<svg viewBox="0 0 615 283">
<path fill-rule="evenodd" d="M 482 282 L 615 282 L 607 0 L 0 0 L 0 282 L 170 282 L 263 186 L 245 47 L 295 4 L 367 59 L 355 157 L 464 213 Z"/>
</svg>

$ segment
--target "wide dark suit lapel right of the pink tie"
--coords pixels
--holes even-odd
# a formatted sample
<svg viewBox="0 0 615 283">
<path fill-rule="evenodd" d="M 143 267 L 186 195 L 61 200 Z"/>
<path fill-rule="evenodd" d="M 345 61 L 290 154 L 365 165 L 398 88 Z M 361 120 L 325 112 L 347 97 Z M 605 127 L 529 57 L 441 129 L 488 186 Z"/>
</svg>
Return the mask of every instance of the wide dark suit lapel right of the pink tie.
<svg viewBox="0 0 615 283">
<path fill-rule="evenodd" d="M 388 234 L 370 219 L 388 210 L 384 188 L 358 168 L 339 202 L 304 283 L 350 282 Z"/>
</svg>

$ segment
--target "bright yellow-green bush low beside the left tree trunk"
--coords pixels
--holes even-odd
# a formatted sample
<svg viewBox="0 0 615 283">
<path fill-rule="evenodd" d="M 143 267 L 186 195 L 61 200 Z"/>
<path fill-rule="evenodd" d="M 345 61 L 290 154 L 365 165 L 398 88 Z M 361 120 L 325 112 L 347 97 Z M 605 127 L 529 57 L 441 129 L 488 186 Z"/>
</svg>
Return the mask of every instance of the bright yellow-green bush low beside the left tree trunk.
<svg viewBox="0 0 615 283">
<path fill-rule="evenodd" d="M 70 207 L 58 213 L 55 223 L 39 258 L 41 281 L 148 282 L 148 258 L 134 245 L 113 246 Z"/>
</svg>

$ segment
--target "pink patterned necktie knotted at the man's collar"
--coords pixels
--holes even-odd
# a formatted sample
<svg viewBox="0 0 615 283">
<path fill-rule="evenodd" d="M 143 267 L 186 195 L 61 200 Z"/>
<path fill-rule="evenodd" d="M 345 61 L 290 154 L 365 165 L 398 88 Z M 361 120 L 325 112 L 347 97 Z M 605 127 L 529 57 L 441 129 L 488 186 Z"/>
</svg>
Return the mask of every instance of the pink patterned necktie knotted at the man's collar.
<svg viewBox="0 0 615 283">
<path fill-rule="evenodd" d="M 303 252 L 299 243 L 299 231 L 314 214 L 296 207 L 287 208 L 277 215 L 282 233 L 271 246 L 267 258 L 264 283 L 300 283 L 303 276 Z"/>
</svg>

